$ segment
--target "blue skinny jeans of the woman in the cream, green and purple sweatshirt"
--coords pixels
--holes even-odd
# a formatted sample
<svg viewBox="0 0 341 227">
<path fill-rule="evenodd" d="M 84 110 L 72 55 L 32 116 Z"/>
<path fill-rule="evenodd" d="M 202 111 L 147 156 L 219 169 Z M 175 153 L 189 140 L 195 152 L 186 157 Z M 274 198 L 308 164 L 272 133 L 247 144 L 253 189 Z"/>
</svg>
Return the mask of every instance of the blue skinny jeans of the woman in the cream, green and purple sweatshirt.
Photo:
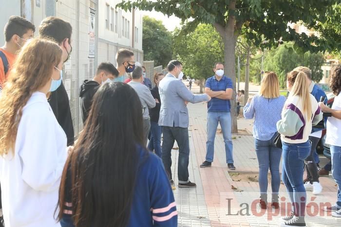
<svg viewBox="0 0 341 227">
<path fill-rule="evenodd" d="M 306 192 L 303 186 L 304 159 L 308 157 L 311 144 L 282 142 L 282 181 L 293 204 L 296 216 L 304 216 Z"/>
</svg>

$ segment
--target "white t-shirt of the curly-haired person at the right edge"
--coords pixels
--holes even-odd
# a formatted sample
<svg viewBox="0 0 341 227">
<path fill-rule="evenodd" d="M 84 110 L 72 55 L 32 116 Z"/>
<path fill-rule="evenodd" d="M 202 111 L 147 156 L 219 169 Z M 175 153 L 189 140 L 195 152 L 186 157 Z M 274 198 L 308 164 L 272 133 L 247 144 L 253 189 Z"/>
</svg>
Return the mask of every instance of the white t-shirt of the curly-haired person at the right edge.
<svg viewBox="0 0 341 227">
<path fill-rule="evenodd" d="M 334 98 L 332 109 L 341 110 L 341 93 Z M 341 120 L 329 117 L 327 120 L 327 135 L 325 142 L 341 147 Z"/>
</svg>

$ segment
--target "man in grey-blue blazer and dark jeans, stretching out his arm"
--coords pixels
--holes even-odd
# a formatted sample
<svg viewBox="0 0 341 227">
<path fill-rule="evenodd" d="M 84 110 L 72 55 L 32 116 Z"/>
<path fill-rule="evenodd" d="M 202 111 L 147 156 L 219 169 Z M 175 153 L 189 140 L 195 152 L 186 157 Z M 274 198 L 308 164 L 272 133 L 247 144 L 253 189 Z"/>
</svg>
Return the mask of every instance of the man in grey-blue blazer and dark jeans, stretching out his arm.
<svg viewBox="0 0 341 227">
<path fill-rule="evenodd" d="M 173 184 L 171 174 L 171 149 L 174 141 L 179 146 L 178 180 L 179 188 L 196 187 L 189 181 L 189 115 L 186 103 L 208 102 L 211 97 L 207 94 L 193 95 L 182 83 L 182 63 L 172 60 L 167 66 L 168 74 L 159 84 L 161 109 L 159 125 L 162 126 L 162 161 L 166 172 Z"/>
</svg>

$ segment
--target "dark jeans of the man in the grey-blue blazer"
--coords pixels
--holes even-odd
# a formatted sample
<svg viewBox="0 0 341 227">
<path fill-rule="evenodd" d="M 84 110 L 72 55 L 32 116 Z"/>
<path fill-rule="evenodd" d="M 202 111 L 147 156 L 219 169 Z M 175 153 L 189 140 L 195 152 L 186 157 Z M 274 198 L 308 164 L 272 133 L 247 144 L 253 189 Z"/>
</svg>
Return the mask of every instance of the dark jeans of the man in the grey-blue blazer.
<svg viewBox="0 0 341 227">
<path fill-rule="evenodd" d="M 188 128 L 163 126 L 163 142 L 162 142 L 162 161 L 169 179 L 171 174 L 171 149 L 174 141 L 179 146 L 178 160 L 178 179 L 179 183 L 186 184 L 189 182 L 188 164 L 189 164 L 189 135 Z"/>
</svg>

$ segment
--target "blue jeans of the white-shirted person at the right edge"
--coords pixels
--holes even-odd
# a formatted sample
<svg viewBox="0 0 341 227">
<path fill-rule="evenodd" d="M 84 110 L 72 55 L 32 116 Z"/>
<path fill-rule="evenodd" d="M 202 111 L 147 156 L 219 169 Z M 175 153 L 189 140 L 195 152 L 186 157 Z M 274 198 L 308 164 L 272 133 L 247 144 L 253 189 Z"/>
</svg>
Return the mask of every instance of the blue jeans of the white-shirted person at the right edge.
<svg viewBox="0 0 341 227">
<path fill-rule="evenodd" d="M 332 156 L 332 175 L 338 185 L 338 200 L 336 205 L 341 208 L 341 147 L 330 146 Z"/>
</svg>

